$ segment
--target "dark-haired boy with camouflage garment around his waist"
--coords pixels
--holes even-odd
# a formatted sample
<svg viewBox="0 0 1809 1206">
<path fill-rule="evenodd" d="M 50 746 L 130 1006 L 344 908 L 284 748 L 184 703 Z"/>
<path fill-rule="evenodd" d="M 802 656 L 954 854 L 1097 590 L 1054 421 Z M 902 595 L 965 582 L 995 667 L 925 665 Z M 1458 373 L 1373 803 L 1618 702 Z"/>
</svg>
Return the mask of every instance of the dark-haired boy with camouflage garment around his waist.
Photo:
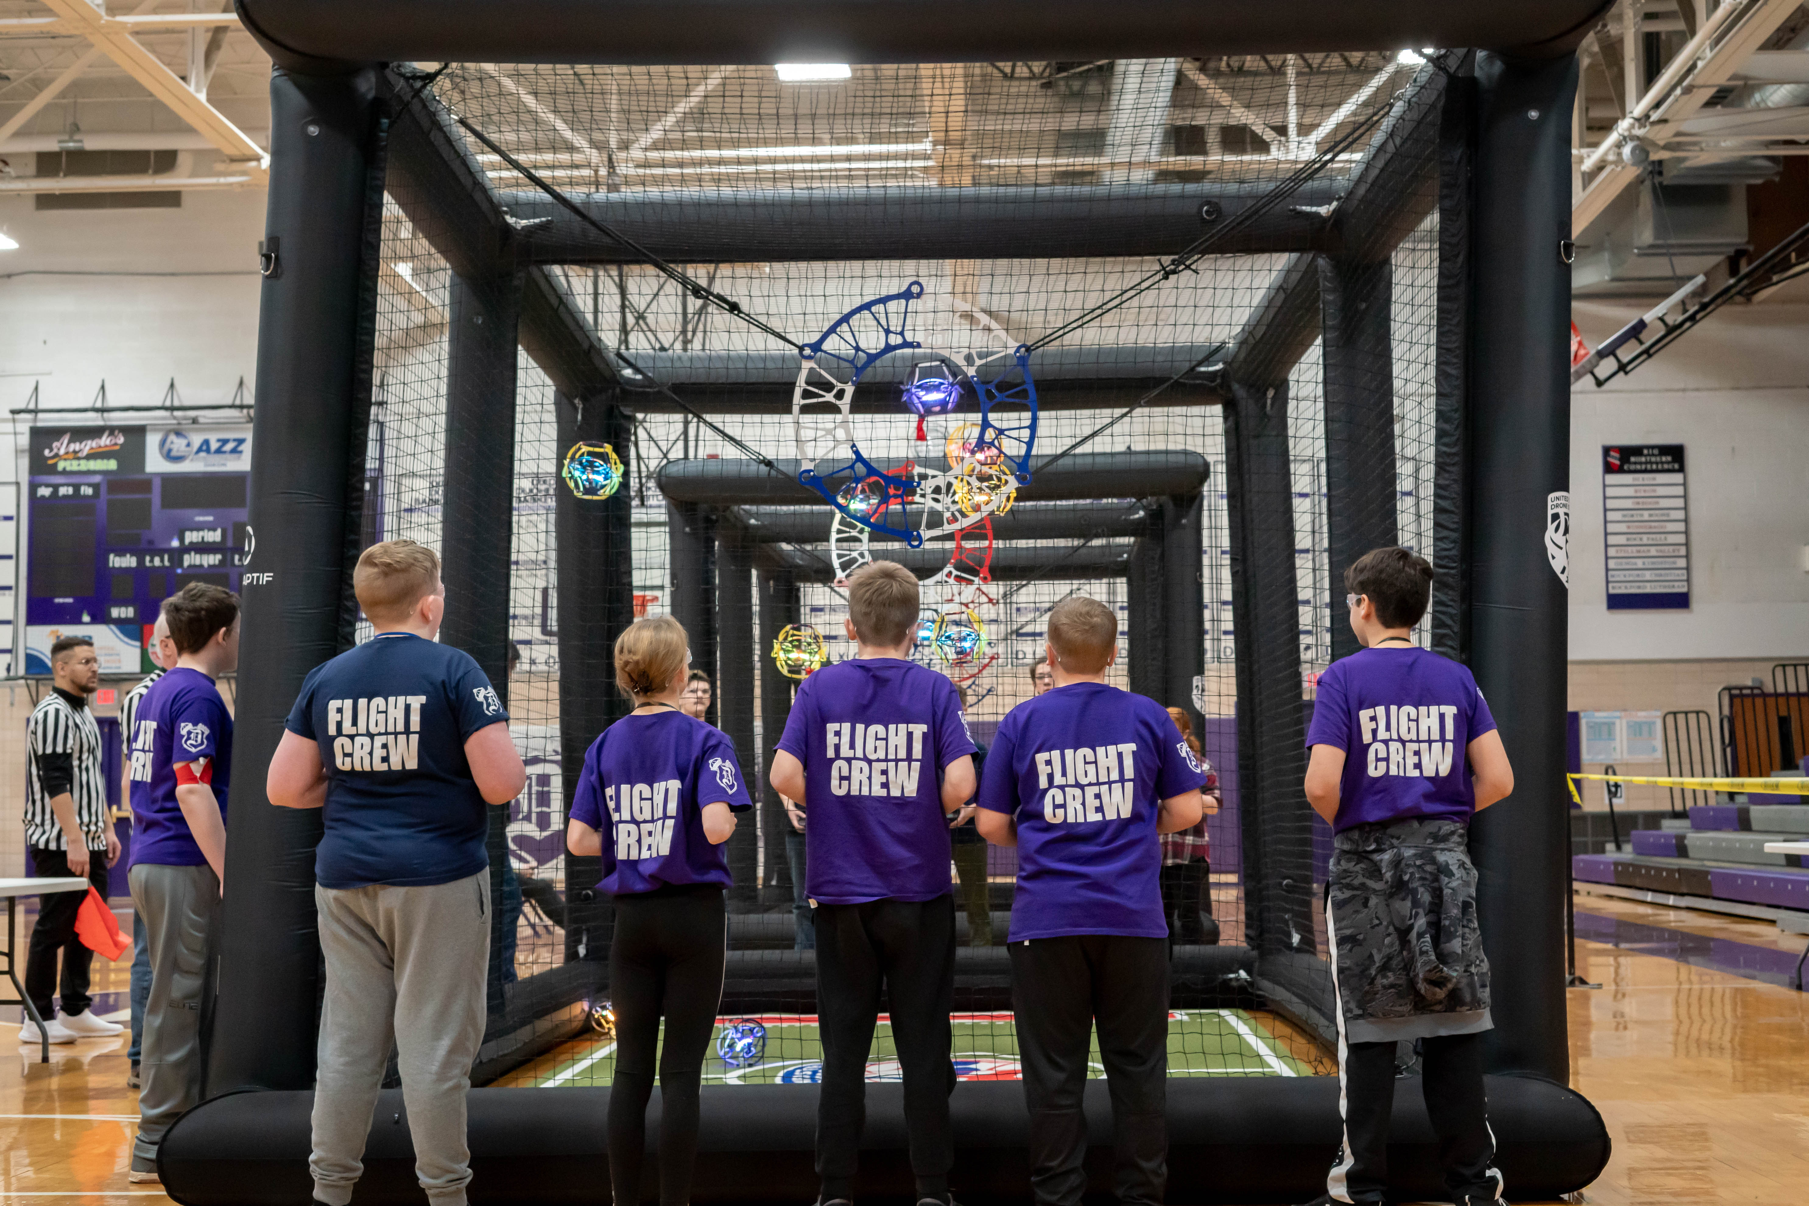
<svg viewBox="0 0 1809 1206">
<path fill-rule="evenodd" d="M 1433 568 L 1404 548 L 1371 550 L 1344 573 L 1364 649 L 1319 676 L 1306 734 L 1306 799 L 1333 830 L 1326 931 L 1344 1114 L 1321 1204 L 1388 1201 L 1395 1043 L 1407 1040 L 1420 1040 L 1451 1201 L 1501 1201 L 1469 819 L 1514 790 L 1514 772 L 1469 669 L 1413 644 L 1431 584 Z M 1438 935 L 1431 958 L 1416 942 L 1427 931 Z"/>
</svg>

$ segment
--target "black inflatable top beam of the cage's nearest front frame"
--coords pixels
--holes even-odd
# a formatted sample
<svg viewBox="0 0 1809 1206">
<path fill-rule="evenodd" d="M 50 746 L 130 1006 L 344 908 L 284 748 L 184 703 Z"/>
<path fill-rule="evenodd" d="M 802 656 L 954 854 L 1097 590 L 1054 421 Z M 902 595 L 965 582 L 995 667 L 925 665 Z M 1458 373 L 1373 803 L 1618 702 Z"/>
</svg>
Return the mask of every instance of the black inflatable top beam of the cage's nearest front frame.
<svg viewBox="0 0 1809 1206">
<path fill-rule="evenodd" d="M 1572 51 L 1603 0 L 237 0 L 279 67 L 923 63 L 1487 47 Z"/>
</svg>

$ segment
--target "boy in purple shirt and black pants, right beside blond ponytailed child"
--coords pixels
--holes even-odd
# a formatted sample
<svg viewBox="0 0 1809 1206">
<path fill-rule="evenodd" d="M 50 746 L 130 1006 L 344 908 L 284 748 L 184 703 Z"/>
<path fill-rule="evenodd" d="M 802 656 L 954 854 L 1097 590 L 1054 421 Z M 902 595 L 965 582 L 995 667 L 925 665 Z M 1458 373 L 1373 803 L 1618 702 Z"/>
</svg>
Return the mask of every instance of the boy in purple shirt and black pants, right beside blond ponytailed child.
<svg viewBox="0 0 1809 1206">
<path fill-rule="evenodd" d="M 885 993 L 904 1069 L 919 1206 L 948 1206 L 955 902 L 948 817 L 973 797 L 973 741 L 955 685 L 910 660 L 917 579 L 874 561 L 848 577 L 850 662 L 798 687 L 772 790 L 810 814 L 805 890 L 816 906 L 823 1081 L 819 1202 L 848 1202 L 867 1119 L 867 1052 Z"/>
</svg>

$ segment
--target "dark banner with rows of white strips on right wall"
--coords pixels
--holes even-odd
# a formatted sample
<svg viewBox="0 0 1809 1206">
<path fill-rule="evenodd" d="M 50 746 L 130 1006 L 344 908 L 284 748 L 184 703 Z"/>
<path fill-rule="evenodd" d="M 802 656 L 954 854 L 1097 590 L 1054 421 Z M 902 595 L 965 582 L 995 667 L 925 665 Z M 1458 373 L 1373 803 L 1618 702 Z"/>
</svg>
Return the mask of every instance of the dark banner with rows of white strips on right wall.
<svg viewBox="0 0 1809 1206">
<path fill-rule="evenodd" d="M 1690 606 L 1690 499 L 1684 447 L 1603 445 L 1608 611 Z"/>
</svg>

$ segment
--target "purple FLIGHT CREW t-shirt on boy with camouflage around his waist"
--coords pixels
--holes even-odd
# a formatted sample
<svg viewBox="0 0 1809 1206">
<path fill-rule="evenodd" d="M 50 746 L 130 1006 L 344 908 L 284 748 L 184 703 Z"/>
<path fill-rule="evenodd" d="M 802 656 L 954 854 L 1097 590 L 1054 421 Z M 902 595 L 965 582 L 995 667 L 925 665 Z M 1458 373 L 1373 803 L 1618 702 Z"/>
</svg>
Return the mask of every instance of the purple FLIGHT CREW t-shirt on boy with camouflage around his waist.
<svg viewBox="0 0 1809 1206">
<path fill-rule="evenodd" d="M 1427 649 L 1360 649 L 1326 667 L 1306 745 L 1344 750 L 1333 832 L 1402 817 L 1469 823 L 1465 749 L 1494 732 L 1469 667 Z"/>
</svg>

